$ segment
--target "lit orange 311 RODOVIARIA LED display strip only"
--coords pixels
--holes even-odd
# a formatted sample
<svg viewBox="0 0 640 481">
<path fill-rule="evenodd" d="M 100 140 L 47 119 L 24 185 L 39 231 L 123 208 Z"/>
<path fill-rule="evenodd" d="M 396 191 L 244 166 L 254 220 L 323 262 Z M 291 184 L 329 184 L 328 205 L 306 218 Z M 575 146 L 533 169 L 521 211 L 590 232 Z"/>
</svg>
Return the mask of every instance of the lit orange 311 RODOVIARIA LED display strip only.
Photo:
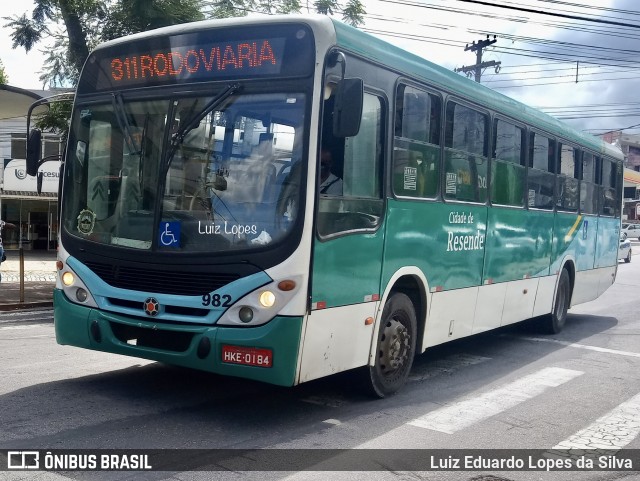
<svg viewBox="0 0 640 481">
<path fill-rule="evenodd" d="M 262 39 L 242 43 L 195 45 L 111 60 L 111 79 L 131 82 L 154 77 L 211 77 L 221 71 L 256 75 L 278 74 L 282 67 L 284 39 Z"/>
</svg>

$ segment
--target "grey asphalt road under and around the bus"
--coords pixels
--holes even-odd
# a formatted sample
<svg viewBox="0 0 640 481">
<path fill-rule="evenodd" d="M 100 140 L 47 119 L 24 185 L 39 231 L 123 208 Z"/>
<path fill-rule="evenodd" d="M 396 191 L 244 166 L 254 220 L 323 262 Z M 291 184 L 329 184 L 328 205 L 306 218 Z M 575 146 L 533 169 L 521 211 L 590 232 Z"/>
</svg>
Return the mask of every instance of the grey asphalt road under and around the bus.
<svg viewBox="0 0 640 481">
<path fill-rule="evenodd" d="M 296 451 L 303 448 L 349 450 L 319 471 L 243 471 L 255 466 L 248 456 L 209 472 L 22 471 L 0 479 L 640 479 L 638 465 L 445 472 L 385 460 L 399 448 L 425 457 L 433 449 L 640 449 L 639 292 L 634 257 L 600 299 L 570 311 L 562 333 L 519 325 L 434 348 L 417 358 L 405 389 L 383 400 L 363 396 L 349 374 L 280 388 L 58 346 L 50 310 L 0 313 L 0 450 L 279 448 L 292 458 L 308 456 Z M 338 469 L 336 459 L 352 448 L 379 449 L 379 470 L 320 471 Z M 211 469 L 211 458 L 191 461 Z"/>
</svg>

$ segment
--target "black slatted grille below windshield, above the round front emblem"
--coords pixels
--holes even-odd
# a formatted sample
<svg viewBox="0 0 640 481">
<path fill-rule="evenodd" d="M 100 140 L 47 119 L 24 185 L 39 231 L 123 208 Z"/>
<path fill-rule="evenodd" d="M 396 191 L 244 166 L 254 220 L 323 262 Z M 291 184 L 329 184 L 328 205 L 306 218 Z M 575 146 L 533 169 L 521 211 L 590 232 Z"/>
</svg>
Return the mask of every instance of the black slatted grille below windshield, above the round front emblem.
<svg viewBox="0 0 640 481">
<path fill-rule="evenodd" d="M 158 294 L 201 296 L 240 278 L 238 274 L 219 272 L 180 272 L 177 269 L 155 271 L 148 267 L 138 268 L 98 262 L 87 262 L 86 265 L 112 287 Z"/>
</svg>

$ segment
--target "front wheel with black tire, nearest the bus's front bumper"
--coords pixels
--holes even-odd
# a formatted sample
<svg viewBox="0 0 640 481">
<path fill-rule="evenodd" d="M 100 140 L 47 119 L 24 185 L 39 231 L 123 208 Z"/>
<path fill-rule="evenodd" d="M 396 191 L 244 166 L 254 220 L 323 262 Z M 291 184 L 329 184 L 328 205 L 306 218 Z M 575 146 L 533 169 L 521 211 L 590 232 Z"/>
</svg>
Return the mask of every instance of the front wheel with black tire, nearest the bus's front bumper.
<svg viewBox="0 0 640 481">
<path fill-rule="evenodd" d="M 406 294 L 392 294 L 382 311 L 376 362 L 363 369 L 365 389 L 379 398 L 397 392 L 407 381 L 416 353 L 416 311 Z"/>
</svg>

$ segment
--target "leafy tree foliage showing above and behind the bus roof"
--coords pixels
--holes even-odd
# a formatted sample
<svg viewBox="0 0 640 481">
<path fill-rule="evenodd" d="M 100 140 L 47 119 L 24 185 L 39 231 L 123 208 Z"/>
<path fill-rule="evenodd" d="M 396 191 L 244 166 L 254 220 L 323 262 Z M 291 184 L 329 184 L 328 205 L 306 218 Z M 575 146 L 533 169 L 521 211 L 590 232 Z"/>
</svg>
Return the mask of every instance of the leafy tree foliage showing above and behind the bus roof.
<svg viewBox="0 0 640 481">
<path fill-rule="evenodd" d="M 15 1 L 15 0 L 8 0 Z M 307 0 L 306 9 L 311 2 Z M 364 23 L 360 0 L 315 0 L 318 13 L 340 15 L 353 26 Z M 76 85 L 89 52 L 103 40 L 154 28 L 201 20 L 299 13 L 300 0 L 34 0 L 31 16 L 3 17 L 13 48 L 29 52 L 42 44 L 47 52 L 40 80 L 50 87 Z"/>
</svg>

